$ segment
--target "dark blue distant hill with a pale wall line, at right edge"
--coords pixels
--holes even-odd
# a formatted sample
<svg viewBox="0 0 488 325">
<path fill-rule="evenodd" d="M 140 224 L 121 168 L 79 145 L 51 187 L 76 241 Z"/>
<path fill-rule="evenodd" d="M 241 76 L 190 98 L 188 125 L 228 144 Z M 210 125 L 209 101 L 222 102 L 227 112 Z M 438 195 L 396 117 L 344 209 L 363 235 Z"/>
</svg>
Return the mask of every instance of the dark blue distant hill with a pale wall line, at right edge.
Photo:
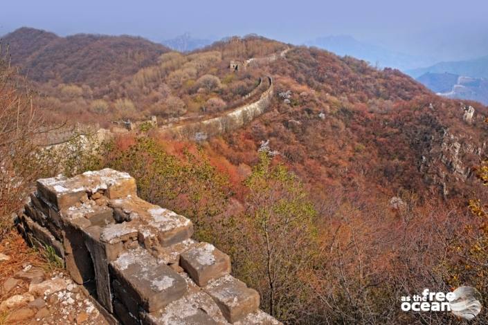
<svg viewBox="0 0 488 325">
<path fill-rule="evenodd" d="M 425 73 L 417 78 L 437 95 L 462 100 L 476 100 L 488 105 L 488 80 L 453 73 Z"/>
</svg>

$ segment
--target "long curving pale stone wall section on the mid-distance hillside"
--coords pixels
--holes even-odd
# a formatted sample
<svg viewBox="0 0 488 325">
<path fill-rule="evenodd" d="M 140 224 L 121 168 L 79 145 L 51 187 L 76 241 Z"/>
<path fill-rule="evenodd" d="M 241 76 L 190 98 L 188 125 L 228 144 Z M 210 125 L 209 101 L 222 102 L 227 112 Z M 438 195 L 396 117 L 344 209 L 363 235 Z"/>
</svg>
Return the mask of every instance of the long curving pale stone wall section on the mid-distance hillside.
<svg viewBox="0 0 488 325">
<path fill-rule="evenodd" d="M 271 77 L 266 77 L 266 79 L 269 82 L 269 87 L 261 94 L 259 100 L 237 107 L 237 109 L 226 112 L 217 118 L 161 129 L 161 133 L 199 141 L 242 127 L 264 113 L 271 103 L 274 93 L 273 79 Z"/>
</svg>

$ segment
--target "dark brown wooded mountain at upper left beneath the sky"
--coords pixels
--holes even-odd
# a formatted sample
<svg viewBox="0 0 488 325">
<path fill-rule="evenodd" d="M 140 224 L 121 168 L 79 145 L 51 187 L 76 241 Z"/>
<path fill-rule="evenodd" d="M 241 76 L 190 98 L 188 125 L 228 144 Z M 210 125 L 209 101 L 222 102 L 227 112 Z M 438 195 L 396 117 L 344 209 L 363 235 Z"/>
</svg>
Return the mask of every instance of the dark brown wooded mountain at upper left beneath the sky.
<svg viewBox="0 0 488 325">
<path fill-rule="evenodd" d="M 91 86 L 133 75 L 169 50 L 141 37 L 59 37 L 25 27 L 3 36 L 2 43 L 9 46 L 12 64 L 21 66 L 32 80 Z"/>
</svg>

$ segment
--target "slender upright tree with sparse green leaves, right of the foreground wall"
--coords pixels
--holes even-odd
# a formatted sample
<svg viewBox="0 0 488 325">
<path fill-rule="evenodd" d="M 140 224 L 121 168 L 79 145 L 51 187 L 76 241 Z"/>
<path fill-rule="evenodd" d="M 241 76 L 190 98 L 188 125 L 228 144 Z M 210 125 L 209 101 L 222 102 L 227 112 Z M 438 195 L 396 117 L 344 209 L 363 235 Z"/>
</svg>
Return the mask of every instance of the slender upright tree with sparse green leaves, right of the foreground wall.
<svg viewBox="0 0 488 325">
<path fill-rule="evenodd" d="M 300 180 L 283 165 L 271 165 L 265 153 L 244 184 L 235 272 L 260 291 L 262 308 L 290 320 L 307 296 L 302 275 L 314 262 L 316 210 Z"/>
</svg>

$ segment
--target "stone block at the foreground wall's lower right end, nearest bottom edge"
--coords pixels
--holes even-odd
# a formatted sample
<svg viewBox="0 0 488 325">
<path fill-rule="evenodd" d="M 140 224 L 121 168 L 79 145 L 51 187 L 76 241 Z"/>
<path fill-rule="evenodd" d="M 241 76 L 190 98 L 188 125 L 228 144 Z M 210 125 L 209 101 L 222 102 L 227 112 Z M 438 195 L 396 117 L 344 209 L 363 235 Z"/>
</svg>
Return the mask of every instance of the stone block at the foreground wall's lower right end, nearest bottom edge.
<svg viewBox="0 0 488 325">
<path fill-rule="evenodd" d="M 260 305 L 260 295 L 244 282 L 226 275 L 211 281 L 204 290 L 212 297 L 228 322 L 237 322 L 254 313 Z"/>
</svg>

